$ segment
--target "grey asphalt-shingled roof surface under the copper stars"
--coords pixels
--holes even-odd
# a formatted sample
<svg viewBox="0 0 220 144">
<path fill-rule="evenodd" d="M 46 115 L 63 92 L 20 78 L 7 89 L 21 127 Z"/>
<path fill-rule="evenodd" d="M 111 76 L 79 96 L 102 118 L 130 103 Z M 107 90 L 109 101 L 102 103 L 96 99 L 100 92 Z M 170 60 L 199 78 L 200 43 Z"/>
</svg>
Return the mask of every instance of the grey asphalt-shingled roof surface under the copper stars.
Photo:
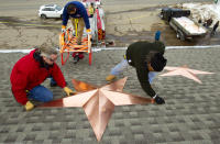
<svg viewBox="0 0 220 144">
<path fill-rule="evenodd" d="M 94 53 L 77 65 L 73 59 L 62 70 L 69 87 L 72 79 L 105 85 L 105 77 L 118 64 L 124 51 Z M 97 144 L 94 131 L 81 108 L 35 108 L 25 112 L 10 90 L 10 73 L 24 54 L 0 54 L 0 143 L 72 143 Z M 167 49 L 167 66 L 215 73 L 198 75 L 202 84 L 182 76 L 157 77 L 154 88 L 166 104 L 116 107 L 100 144 L 219 144 L 220 142 L 220 47 L 206 49 Z M 61 64 L 61 59 L 57 62 Z M 163 71 L 164 73 L 164 71 Z M 147 97 L 134 68 L 129 67 L 119 78 L 128 76 L 125 92 Z M 48 80 L 44 82 L 48 87 Z M 55 99 L 61 88 L 50 88 Z"/>
</svg>

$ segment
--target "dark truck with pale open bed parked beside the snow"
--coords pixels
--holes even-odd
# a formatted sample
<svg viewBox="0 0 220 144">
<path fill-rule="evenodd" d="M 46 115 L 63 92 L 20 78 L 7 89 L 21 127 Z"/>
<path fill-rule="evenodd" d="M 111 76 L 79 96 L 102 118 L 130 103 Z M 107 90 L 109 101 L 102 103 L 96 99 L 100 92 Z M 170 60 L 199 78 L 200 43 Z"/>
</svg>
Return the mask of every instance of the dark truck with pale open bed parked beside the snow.
<svg viewBox="0 0 220 144">
<path fill-rule="evenodd" d="M 201 37 L 207 30 L 189 18 L 190 10 L 164 8 L 161 11 L 161 19 L 169 23 L 176 31 L 177 38 L 185 41 Z"/>
</svg>

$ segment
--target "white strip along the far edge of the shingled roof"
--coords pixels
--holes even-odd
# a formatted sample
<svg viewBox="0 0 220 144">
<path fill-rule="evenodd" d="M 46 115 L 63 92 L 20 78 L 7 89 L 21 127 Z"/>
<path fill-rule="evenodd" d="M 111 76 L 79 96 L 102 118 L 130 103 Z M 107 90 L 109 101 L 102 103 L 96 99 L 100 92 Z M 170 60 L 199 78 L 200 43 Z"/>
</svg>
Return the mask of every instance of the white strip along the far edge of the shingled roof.
<svg viewBox="0 0 220 144">
<path fill-rule="evenodd" d="M 183 48 L 215 48 L 220 47 L 220 45 L 205 45 L 205 46 L 166 46 L 166 49 L 183 49 Z M 100 51 L 114 51 L 120 49 L 124 51 L 128 47 L 94 47 L 92 52 Z M 34 48 L 32 48 L 34 49 Z M 0 53 L 30 53 L 32 49 L 0 49 Z M 57 49 L 58 51 L 58 49 Z"/>
</svg>

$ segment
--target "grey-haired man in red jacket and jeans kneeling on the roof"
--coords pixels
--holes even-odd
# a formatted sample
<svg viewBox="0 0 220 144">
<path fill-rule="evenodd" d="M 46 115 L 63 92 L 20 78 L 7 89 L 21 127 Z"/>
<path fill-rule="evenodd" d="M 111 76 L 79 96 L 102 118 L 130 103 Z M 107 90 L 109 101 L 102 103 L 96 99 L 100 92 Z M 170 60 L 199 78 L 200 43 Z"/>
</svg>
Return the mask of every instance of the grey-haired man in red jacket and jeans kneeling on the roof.
<svg viewBox="0 0 220 144">
<path fill-rule="evenodd" d="M 32 110 L 34 104 L 30 99 L 47 102 L 53 100 L 51 90 L 41 86 L 48 77 L 52 77 L 57 86 L 62 87 L 69 96 L 73 91 L 66 87 L 62 70 L 55 63 L 57 51 L 45 44 L 19 59 L 11 71 L 11 90 L 15 100 L 24 106 L 25 110 Z"/>
</svg>

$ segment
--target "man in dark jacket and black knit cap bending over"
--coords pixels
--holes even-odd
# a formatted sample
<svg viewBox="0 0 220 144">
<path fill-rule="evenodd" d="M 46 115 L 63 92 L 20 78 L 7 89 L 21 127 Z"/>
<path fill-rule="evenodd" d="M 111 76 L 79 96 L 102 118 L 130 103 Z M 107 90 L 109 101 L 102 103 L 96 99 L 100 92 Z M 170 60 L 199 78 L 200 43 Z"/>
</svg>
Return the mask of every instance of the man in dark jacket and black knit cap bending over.
<svg viewBox="0 0 220 144">
<path fill-rule="evenodd" d="M 139 81 L 144 91 L 155 99 L 157 104 L 163 104 L 165 103 L 164 99 L 156 95 L 151 84 L 155 77 L 154 71 L 162 71 L 166 65 L 166 59 L 163 57 L 164 52 L 165 45 L 160 41 L 133 43 L 128 47 L 124 59 L 112 68 L 106 80 L 113 80 L 128 65 L 131 65 L 136 69 Z"/>
</svg>

